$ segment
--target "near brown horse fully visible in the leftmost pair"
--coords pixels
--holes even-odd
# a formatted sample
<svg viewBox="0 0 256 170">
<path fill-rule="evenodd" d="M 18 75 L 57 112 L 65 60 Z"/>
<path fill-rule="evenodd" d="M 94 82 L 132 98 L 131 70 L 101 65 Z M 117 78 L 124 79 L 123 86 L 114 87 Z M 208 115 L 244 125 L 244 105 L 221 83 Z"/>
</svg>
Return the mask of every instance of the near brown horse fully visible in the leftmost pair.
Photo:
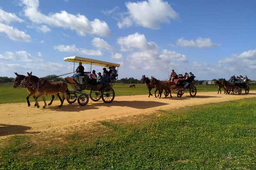
<svg viewBox="0 0 256 170">
<path fill-rule="evenodd" d="M 59 82 L 50 82 L 47 80 L 44 80 L 43 78 L 38 78 L 37 76 L 32 75 L 32 72 L 27 73 L 27 77 L 23 79 L 21 82 L 21 85 L 28 87 L 29 84 L 32 85 L 32 87 L 37 88 L 38 95 L 35 98 L 37 103 L 37 108 L 39 108 L 39 104 L 37 102 L 37 99 L 42 96 L 44 106 L 45 108 L 47 106 L 45 101 L 44 95 L 55 95 L 59 92 L 62 94 L 62 101 L 59 106 L 59 108 L 63 105 L 63 101 L 65 99 L 65 94 L 68 92 L 67 84 L 65 82 L 59 81 Z"/>
</svg>

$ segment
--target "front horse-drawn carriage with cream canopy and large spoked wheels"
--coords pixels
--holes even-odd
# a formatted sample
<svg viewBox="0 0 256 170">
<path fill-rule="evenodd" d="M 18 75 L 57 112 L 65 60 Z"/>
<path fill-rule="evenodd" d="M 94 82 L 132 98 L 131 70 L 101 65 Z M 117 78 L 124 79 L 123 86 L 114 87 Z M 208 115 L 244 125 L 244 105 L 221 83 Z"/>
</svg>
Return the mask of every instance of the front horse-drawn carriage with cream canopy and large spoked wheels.
<svg viewBox="0 0 256 170">
<path fill-rule="evenodd" d="M 95 59 L 87 59 L 78 56 L 66 57 L 64 61 L 67 62 L 74 62 L 74 70 L 75 70 L 75 62 L 82 62 L 85 64 L 90 64 L 91 68 L 92 65 L 100 65 L 103 67 L 120 67 L 120 64 L 115 64 L 111 62 L 104 62 Z M 90 69 L 91 70 L 91 69 Z M 89 96 L 84 92 L 85 90 L 89 90 L 90 99 L 93 101 L 99 101 L 100 98 L 105 103 L 111 103 L 115 98 L 115 91 L 113 90 L 112 86 L 116 82 L 116 79 L 110 80 L 107 84 L 97 84 L 90 78 L 90 72 L 83 72 L 82 75 L 79 75 L 75 78 L 66 77 L 66 81 L 71 85 L 73 91 L 69 91 L 68 95 L 69 98 L 67 99 L 68 103 L 72 104 L 74 102 L 79 103 L 79 105 L 85 106 L 89 101 Z"/>
</svg>

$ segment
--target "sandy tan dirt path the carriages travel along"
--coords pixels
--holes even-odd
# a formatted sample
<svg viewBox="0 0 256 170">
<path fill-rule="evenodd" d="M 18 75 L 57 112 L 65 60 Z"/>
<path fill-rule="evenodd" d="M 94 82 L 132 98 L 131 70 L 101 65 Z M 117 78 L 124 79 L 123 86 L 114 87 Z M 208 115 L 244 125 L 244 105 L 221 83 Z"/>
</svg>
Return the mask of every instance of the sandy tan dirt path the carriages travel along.
<svg viewBox="0 0 256 170">
<path fill-rule="evenodd" d="M 249 95 L 217 95 L 216 92 L 199 92 L 195 98 L 184 94 L 182 98 L 148 98 L 147 95 L 119 96 L 113 103 L 105 104 L 102 100 L 90 100 L 86 106 L 68 104 L 64 102 L 63 108 L 58 108 L 60 101 L 53 101 L 52 106 L 43 109 L 27 103 L 13 103 L 0 105 L 0 137 L 8 134 L 21 134 L 57 130 L 66 127 L 85 124 L 93 121 L 115 119 L 134 114 L 143 114 L 158 109 L 179 108 L 182 106 L 200 105 L 211 102 L 237 100 L 241 98 L 256 97 L 256 91 Z M 33 102 L 32 102 L 33 103 Z"/>
</svg>

